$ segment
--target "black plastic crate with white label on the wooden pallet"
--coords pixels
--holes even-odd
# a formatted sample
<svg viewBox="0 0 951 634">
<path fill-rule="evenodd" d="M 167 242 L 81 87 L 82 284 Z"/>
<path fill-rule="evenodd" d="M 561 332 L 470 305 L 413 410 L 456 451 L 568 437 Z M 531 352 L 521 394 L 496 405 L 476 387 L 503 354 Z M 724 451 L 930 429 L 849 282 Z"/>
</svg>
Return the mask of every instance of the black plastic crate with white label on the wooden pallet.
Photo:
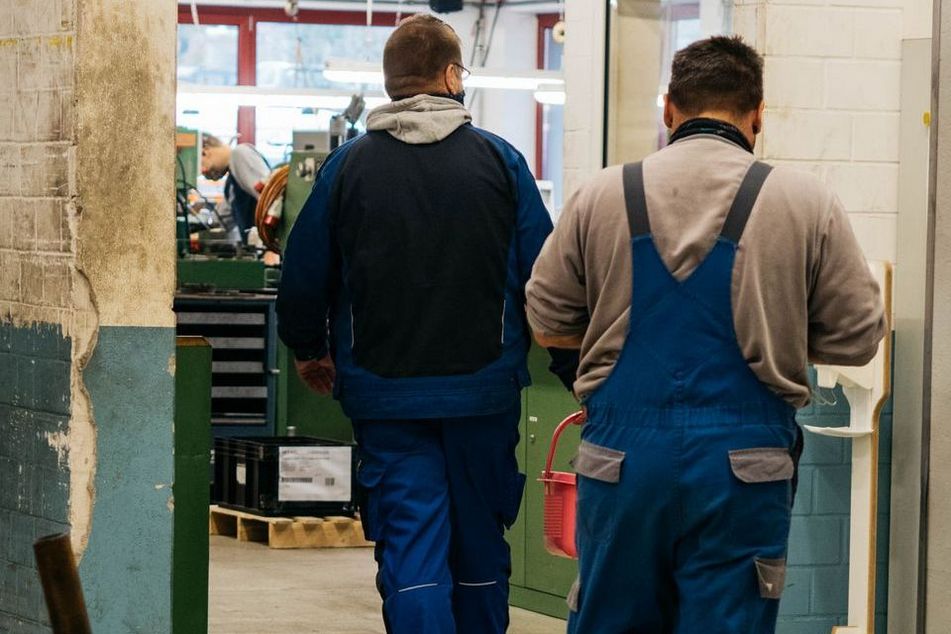
<svg viewBox="0 0 951 634">
<path fill-rule="evenodd" d="M 260 515 L 356 511 L 352 443 L 307 436 L 216 438 L 214 501 Z"/>
</svg>

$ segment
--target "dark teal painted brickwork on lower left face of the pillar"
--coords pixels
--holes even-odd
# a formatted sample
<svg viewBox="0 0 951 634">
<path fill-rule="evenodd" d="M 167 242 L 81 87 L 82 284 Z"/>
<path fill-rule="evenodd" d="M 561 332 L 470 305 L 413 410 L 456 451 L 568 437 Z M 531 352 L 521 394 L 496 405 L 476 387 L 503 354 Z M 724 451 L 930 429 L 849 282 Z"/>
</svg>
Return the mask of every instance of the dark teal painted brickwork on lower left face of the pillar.
<svg viewBox="0 0 951 634">
<path fill-rule="evenodd" d="M 0 324 L 0 632 L 49 632 L 33 542 L 68 530 L 69 467 L 47 436 L 69 425 L 70 340 Z"/>
</svg>

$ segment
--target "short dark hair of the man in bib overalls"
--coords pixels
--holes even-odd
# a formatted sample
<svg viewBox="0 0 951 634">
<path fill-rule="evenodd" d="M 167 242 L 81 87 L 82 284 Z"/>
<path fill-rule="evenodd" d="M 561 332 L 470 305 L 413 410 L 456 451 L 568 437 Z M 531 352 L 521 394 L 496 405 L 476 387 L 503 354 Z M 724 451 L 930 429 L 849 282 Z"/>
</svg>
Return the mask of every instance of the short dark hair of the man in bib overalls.
<svg viewBox="0 0 951 634">
<path fill-rule="evenodd" d="M 738 35 L 694 42 L 674 55 L 667 92 L 687 116 L 746 114 L 763 102 L 763 58 Z"/>
</svg>

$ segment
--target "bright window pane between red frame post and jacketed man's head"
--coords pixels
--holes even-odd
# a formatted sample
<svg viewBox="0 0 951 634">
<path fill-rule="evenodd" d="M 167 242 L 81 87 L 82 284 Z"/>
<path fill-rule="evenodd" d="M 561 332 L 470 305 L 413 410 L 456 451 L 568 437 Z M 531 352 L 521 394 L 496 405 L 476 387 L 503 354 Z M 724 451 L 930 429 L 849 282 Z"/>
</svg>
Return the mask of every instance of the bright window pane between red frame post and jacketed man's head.
<svg viewBox="0 0 951 634">
<path fill-rule="evenodd" d="M 261 22 L 257 85 L 267 88 L 356 89 L 324 79 L 328 58 L 380 62 L 394 27 Z"/>
</svg>

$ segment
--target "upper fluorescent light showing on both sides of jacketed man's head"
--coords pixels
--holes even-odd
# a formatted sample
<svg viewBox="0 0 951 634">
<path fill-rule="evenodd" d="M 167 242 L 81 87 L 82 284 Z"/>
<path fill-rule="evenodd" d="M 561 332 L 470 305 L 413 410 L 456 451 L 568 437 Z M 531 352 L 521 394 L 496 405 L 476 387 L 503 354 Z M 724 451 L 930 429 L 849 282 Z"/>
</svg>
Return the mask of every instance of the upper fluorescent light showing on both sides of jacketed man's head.
<svg viewBox="0 0 951 634">
<path fill-rule="evenodd" d="M 383 71 L 379 64 L 345 59 L 328 59 L 324 65 L 324 77 L 330 81 L 348 84 L 383 85 Z M 501 90 L 538 90 L 544 86 L 563 86 L 561 73 L 550 70 L 502 70 L 491 68 L 472 69 L 466 80 L 467 88 L 495 88 Z"/>
</svg>

